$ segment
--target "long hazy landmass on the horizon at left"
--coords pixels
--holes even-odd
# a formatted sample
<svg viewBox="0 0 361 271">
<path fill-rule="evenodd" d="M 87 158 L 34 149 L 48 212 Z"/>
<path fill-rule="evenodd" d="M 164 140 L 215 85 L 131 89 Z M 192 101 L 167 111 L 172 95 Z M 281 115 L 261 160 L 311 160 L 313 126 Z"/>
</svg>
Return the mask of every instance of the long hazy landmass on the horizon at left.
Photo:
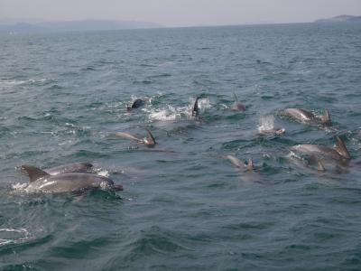
<svg viewBox="0 0 361 271">
<path fill-rule="evenodd" d="M 163 26 L 158 23 L 136 21 L 85 20 L 41 23 L 6 23 L 3 21 L 0 22 L 0 33 L 59 33 L 121 29 L 148 29 L 161 27 Z"/>
</svg>

